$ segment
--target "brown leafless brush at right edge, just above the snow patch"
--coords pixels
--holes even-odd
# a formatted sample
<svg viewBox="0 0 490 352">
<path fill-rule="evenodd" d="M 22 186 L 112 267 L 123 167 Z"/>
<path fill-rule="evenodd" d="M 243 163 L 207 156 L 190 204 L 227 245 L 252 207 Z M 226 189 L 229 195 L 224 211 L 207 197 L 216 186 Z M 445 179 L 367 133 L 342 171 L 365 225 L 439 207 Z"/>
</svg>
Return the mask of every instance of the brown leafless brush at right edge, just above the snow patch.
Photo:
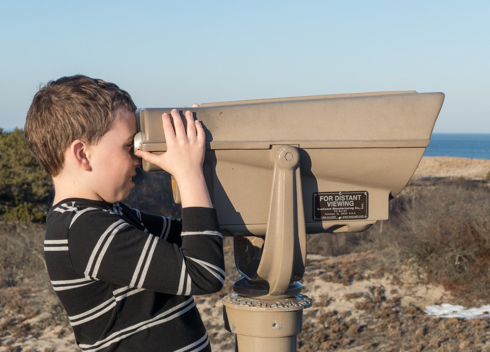
<svg viewBox="0 0 490 352">
<path fill-rule="evenodd" d="M 485 182 L 418 183 L 392 201 L 390 221 L 373 237 L 393 246 L 421 278 L 457 296 L 487 299 L 490 283 L 482 278 L 490 275 L 489 200 Z"/>
</svg>

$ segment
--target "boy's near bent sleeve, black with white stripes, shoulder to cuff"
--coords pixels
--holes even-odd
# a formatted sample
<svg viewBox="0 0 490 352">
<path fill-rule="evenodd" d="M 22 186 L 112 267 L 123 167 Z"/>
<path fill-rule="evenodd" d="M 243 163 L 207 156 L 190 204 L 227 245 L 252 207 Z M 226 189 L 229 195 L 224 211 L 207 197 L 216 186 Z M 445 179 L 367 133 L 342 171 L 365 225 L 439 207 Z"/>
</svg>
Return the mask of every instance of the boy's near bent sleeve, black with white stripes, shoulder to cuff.
<svg viewBox="0 0 490 352">
<path fill-rule="evenodd" d="M 225 266 L 216 210 L 187 207 L 182 217 L 179 246 L 135 228 L 115 213 L 85 211 L 68 234 L 73 269 L 87 279 L 174 295 L 221 290 Z"/>
</svg>

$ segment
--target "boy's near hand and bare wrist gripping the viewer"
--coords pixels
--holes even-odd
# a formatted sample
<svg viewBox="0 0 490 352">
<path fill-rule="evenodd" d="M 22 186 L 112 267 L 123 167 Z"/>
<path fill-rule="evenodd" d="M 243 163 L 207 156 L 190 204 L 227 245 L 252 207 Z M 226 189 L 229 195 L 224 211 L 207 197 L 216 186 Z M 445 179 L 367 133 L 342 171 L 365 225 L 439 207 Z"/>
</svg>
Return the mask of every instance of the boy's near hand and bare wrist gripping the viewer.
<svg viewBox="0 0 490 352">
<path fill-rule="evenodd" d="M 138 150 L 135 155 L 173 175 L 179 186 L 182 207 L 212 207 L 202 173 L 204 129 L 199 121 L 194 121 L 190 111 L 184 113 L 186 128 L 177 109 L 173 109 L 170 114 L 162 115 L 167 151 L 158 155 Z"/>
</svg>

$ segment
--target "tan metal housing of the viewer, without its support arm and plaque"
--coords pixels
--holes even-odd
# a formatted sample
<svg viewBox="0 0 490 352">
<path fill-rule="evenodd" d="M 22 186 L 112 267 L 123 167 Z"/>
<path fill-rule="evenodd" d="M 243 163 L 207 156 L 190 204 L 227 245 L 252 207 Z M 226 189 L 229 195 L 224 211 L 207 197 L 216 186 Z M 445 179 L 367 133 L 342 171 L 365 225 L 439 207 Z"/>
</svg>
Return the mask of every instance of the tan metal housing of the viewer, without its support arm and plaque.
<svg viewBox="0 0 490 352">
<path fill-rule="evenodd" d="M 430 142 L 442 93 L 382 92 L 203 104 L 206 181 L 223 231 L 264 235 L 269 215 L 272 146 L 299 148 L 307 233 L 361 231 L 388 218 L 388 199 L 409 181 Z M 166 150 L 169 109 L 138 111 L 142 150 Z M 145 170 L 158 167 L 144 162 Z M 364 219 L 314 219 L 322 192 L 366 191 Z M 267 201 L 264 201 L 267 200 Z"/>
</svg>

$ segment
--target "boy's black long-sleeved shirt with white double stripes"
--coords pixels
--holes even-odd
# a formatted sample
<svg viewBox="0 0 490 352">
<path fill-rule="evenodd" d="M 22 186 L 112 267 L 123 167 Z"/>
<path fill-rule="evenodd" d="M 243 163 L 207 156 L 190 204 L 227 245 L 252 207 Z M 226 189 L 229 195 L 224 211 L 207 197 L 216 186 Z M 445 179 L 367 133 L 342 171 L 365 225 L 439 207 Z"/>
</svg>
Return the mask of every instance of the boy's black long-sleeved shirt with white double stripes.
<svg viewBox="0 0 490 352">
<path fill-rule="evenodd" d="M 84 351 L 211 350 L 191 295 L 224 283 L 216 211 L 182 222 L 68 199 L 48 212 L 46 266 Z"/>
</svg>

